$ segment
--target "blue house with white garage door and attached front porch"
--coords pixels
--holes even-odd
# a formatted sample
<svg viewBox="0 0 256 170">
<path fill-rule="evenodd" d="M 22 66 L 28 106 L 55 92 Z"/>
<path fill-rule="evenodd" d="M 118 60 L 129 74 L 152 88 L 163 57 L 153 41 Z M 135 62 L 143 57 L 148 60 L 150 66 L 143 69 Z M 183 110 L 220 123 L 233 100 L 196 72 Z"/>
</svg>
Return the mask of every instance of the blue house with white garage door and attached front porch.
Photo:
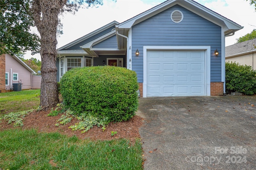
<svg viewBox="0 0 256 170">
<path fill-rule="evenodd" d="M 58 48 L 57 81 L 71 68 L 114 65 L 137 73 L 143 97 L 222 95 L 225 37 L 240 29 L 193 0 L 167 0 Z"/>
</svg>

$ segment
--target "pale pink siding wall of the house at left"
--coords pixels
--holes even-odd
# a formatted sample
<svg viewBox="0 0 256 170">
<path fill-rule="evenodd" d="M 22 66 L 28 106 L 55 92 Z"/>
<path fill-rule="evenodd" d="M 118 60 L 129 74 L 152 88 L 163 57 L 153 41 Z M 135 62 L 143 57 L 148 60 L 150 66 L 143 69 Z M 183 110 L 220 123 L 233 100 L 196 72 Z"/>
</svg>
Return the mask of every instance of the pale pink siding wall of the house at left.
<svg viewBox="0 0 256 170">
<path fill-rule="evenodd" d="M 9 86 L 6 86 L 6 90 L 10 90 L 13 83 L 22 83 L 22 89 L 31 89 L 32 73 L 9 54 L 5 55 L 5 61 L 5 72 L 9 73 Z M 13 80 L 13 73 L 18 73 L 18 80 Z"/>
</svg>

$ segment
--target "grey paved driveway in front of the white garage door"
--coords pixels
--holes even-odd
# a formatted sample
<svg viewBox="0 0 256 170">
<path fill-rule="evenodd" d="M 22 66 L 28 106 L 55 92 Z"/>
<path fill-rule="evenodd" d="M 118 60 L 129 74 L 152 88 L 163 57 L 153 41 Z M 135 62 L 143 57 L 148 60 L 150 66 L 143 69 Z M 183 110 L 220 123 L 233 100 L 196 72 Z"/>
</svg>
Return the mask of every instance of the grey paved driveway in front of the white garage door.
<svg viewBox="0 0 256 170">
<path fill-rule="evenodd" d="M 140 98 L 144 170 L 256 170 L 256 96 Z"/>
</svg>

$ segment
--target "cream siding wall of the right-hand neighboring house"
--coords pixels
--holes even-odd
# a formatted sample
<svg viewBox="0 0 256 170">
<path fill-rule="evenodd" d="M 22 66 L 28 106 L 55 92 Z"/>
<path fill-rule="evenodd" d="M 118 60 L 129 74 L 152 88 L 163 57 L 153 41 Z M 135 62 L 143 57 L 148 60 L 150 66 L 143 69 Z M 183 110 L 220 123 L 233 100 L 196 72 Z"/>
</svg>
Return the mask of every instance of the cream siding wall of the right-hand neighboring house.
<svg viewBox="0 0 256 170">
<path fill-rule="evenodd" d="M 252 66 L 256 70 L 256 53 L 244 54 L 241 56 L 234 56 L 226 58 L 226 62 L 236 62 L 240 65 Z"/>
</svg>

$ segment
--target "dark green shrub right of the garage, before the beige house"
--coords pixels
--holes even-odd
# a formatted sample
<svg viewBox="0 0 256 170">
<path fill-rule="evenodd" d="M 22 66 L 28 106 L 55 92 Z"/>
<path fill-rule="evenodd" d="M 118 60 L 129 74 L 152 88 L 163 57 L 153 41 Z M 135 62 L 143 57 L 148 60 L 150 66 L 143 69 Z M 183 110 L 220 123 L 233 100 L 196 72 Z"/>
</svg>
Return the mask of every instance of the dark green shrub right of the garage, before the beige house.
<svg viewBox="0 0 256 170">
<path fill-rule="evenodd" d="M 226 62 L 226 92 L 227 94 L 231 92 L 256 94 L 256 71 L 251 66 Z"/>
</svg>

